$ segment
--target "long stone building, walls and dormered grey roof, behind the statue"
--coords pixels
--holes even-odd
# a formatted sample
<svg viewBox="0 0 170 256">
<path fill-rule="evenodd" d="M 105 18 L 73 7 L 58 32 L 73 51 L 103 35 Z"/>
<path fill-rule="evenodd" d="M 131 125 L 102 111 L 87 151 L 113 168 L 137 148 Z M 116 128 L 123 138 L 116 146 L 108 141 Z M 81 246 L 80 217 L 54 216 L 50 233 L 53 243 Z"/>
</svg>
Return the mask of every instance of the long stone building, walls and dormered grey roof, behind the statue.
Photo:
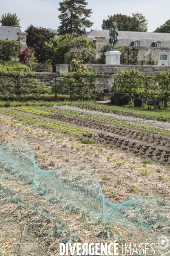
<svg viewBox="0 0 170 256">
<path fill-rule="evenodd" d="M 109 42 L 109 31 L 94 29 L 81 36 L 84 37 L 96 42 L 96 58 L 99 58 L 103 45 Z M 139 61 L 148 64 L 151 56 L 157 63 L 158 52 L 170 51 L 170 33 L 119 31 L 117 45 L 139 47 Z"/>
</svg>

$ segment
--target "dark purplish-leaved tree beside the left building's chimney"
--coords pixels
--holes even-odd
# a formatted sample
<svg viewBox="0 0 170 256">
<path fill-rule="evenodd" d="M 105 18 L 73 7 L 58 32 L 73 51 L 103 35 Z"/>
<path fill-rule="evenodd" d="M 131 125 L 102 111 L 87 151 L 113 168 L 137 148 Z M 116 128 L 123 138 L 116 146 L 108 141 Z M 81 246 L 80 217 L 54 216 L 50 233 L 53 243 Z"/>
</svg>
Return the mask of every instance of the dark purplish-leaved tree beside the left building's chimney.
<svg viewBox="0 0 170 256">
<path fill-rule="evenodd" d="M 42 62 L 42 48 L 45 42 L 50 38 L 54 38 L 55 34 L 50 30 L 42 27 L 34 27 L 33 25 L 28 26 L 25 30 L 27 35 L 27 46 L 34 49 L 34 55 L 38 61 Z"/>
</svg>

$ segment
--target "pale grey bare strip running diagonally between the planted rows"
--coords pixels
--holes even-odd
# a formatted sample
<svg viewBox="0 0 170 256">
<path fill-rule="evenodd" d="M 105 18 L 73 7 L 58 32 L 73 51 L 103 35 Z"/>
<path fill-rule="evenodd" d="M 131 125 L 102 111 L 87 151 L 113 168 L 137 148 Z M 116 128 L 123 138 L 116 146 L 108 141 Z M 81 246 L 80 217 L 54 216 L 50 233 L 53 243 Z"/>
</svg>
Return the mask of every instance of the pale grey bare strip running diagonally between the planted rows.
<svg viewBox="0 0 170 256">
<path fill-rule="evenodd" d="M 122 116 L 122 115 L 114 115 L 114 114 L 102 113 L 102 112 L 97 112 L 97 111 L 89 111 L 89 110 L 85 110 L 85 109 L 81 109 L 81 108 L 74 108 L 74 107 L 70 107 L 70 106 L 54 105 L 52 107 L 61 109 L 61 110 L 67 110 L 67 111 L 72 111 L 72 112 L 76 112 L 76 113 L 86 114 L 89 116 L 99 116 L 99 117 L 103 117 L 103 118 L 109 118 L 109 119 L 114 119 L 114 120 L 119 120 L 119 121 L 130 122 L 130 123 L 136 123 L 136 124 L 140 124 L 140 125 L 150 125 L 150 126 L 170 129 L 170 123 L 167 123 L 167 122 L 143 120 L 143 119 L 138 119 L 138 118 L 134 118 L 134 117 L 130 117 L 130 116 Z"/>
</svg>

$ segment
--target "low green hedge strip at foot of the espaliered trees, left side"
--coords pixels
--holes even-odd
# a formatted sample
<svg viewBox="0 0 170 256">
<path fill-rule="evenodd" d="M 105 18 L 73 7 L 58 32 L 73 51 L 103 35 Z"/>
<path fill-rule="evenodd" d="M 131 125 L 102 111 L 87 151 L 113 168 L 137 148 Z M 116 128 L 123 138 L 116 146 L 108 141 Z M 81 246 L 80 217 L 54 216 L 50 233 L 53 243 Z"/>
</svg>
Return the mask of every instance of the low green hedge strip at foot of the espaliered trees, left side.
<svg viewBox="0 0 170 256">
<path fill-rule="evenodd" d="M 57 101 L 65 101 L 69 100 L 69 95 L 57 95 Z M 9 95 L 0 95 L 0 100 L 2 101 L 17 101 L 17 97 L 9 96 Z M 21 102 L 26 102 L 30 100 L 42 100 L 42 101 L 55 101 L 55 95 L 47 95 L 47 94 L 41 94 L 41 95 L 22 95 L 21 96 Z"/>
</svg>

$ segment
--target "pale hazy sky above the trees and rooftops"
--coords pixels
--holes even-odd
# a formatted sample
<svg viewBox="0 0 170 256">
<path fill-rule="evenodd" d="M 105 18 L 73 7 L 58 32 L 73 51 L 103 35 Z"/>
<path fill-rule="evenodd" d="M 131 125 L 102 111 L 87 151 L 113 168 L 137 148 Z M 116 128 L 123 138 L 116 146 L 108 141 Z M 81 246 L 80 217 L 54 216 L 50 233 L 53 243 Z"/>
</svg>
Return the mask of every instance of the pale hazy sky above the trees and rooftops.
<svg viewBox="0 0 170 256">
<path fill-rule="evenodd" d="M 5 13 L 16 13 L 20 18 L 22 32 L 30 26 L 57 29 L 59 2 L 61 0 L 0 0 L 0 17 Z M 102 29 L 103 19 L 108 15 L 121 13 L 132 16 L 142 13 L 148 20 L 148 32 L 170 19 L 170 0 L 87 0 L 88 8 L 93 14 L 89 18 L 94 25 L 92 29 Z M 86 29 L 90 31 L 90 29 Z"/>
</svg>

